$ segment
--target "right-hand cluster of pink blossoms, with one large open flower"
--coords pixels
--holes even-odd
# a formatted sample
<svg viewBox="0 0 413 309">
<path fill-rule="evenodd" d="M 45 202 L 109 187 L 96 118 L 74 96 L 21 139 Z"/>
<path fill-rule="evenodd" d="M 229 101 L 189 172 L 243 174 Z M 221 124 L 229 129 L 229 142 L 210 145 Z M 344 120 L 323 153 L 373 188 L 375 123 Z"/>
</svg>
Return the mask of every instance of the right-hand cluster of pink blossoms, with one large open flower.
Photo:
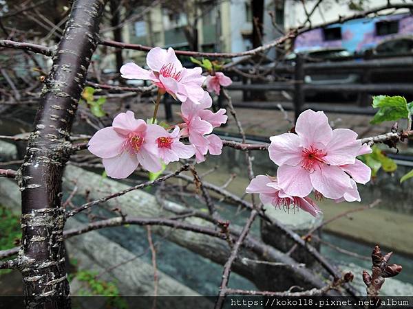
<svg viewBox="0 0 413 309">
<path fill-rule="evenodd" d="M 370 168 L 356 157 L 372 152 L 350 129 L 332 130 L 323 112 L 304 111 L 295 133 L 270 138 L 270 159 L 277 164 L 277 179 L 257 176 L 246 188 L 259 193 L 262 203 L 276 207 L 299 207 L 317 216 L 321 211 L 308 198 L 331 198 L 336 202 L 360 201 L 357 183 L 370 181 Z"/>
</svg>

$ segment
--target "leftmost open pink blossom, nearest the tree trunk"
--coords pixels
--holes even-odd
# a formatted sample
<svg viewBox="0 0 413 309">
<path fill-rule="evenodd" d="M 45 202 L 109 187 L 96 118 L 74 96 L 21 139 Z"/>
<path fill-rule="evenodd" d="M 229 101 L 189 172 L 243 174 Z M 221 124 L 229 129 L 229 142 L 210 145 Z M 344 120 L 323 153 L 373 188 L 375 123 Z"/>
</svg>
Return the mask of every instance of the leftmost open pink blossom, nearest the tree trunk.
<svg viewBox="0 0 413 309">
<path fill-rule="evenodd" d="M 88 149 L 103 158 L 107 176 L 123 179 L 139 164 L 150 172 L 161 169 L 157 139 L 164 135 L 164 128 L 135 119 L 134 112 L 127 111 L 118 114 L 112 126 L 98 130 Z"/>
</svg>

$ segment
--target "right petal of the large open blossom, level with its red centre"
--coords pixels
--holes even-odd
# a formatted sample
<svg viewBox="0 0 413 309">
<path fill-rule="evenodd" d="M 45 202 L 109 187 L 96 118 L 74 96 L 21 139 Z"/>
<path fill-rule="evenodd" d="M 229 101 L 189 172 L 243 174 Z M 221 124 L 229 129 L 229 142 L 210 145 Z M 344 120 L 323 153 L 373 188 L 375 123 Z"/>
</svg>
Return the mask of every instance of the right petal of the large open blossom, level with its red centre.
<svg viewBox="0 0 413 309">
<path fill-rule="evenodd" d="M 327 155 L 323 159 L 331 165 L 352 164 L 361 148 L 357 133 L 339 128 L 332 130 L 332 138 L 326 145 Z"/>
</svg>

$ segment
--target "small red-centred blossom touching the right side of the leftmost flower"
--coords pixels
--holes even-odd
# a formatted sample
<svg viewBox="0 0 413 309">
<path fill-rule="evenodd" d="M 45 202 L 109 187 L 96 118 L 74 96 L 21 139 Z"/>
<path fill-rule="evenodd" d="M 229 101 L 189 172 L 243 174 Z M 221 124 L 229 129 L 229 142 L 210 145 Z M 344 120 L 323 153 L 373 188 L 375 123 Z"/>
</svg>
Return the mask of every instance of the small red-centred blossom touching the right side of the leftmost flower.
<svg viewBox="0 0 413 309">
<path fill-rule="evenodd" d="M 178 161 L 180 158 L 189 159 L 195 155 L 195 147 L 193 145 L 185 145 L 180 139 L 180 129 L 176 126 L 172 133 L 165 130 L 164 135 L 156 139 L 158 144 L 159 157 L 168 164 L 173 161 Z"/>
</svg>

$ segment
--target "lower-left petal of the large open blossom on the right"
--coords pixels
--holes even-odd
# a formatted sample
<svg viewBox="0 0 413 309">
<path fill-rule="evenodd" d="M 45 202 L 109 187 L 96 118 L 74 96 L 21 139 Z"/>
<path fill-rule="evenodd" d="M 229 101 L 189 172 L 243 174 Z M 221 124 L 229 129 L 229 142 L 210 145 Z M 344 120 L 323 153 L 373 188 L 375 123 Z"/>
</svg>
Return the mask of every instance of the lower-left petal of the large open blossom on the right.
<svg viewBox="0 0 413 309">
<path fill-rule="evenodd" d="M 279 187 L 290 196 L 308 196 L 311 190 L 313 190 L 308 170 L 302 168 L 301 165 L 279 166 L 277 170 L 277 180 Z"/>
</svg>

